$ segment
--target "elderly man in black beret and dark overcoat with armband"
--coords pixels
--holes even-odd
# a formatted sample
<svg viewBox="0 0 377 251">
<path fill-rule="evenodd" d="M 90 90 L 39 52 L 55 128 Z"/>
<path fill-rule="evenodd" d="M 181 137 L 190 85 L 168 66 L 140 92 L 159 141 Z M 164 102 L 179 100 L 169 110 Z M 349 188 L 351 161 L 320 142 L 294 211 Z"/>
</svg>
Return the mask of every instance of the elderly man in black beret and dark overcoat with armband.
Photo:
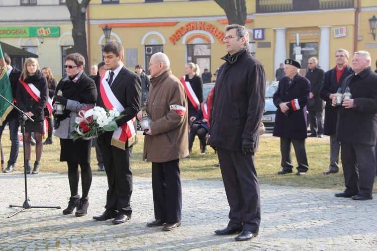
<svg viewBox="0 0 377 251">
<path fill-rule="evenodd" d="M 281 78 L 273 104 L 277 107 L 273 136 L 280 137 L 281 166 L 279 175 L 292 173 L 291 144 L 295 148 L 297 159 L 296 175 L 304 175 L 308 169 L 305 139 L 307 137 L 306 104 L 309 100 L 310 82 L 299 71 L 301 65 L 293 59 L 287 59 L 286 76 Z"/>
</svg>

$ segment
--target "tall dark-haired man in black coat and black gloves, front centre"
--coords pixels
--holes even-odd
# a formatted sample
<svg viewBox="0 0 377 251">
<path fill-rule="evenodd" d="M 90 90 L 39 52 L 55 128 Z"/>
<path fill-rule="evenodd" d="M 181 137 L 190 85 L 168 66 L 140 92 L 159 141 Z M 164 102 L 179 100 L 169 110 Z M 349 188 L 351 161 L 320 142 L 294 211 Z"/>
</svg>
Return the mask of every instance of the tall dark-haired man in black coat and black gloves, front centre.
<svg viewBox="0 0 377 251">
<path fill-rule="evenodd" d="M 215 233 L 240 232 L 236 240 L 250 240 L 258 235 L 260 225 L 254 152 L 258 148 L 266 78 L 263 65 L 250 54 L 247 29 L 234 24 L 225 30 L 228 54 L 222 58 L 225 63 L 216 79 L 207 144 L 217 149 L 230 221 Z"/>
</svg>

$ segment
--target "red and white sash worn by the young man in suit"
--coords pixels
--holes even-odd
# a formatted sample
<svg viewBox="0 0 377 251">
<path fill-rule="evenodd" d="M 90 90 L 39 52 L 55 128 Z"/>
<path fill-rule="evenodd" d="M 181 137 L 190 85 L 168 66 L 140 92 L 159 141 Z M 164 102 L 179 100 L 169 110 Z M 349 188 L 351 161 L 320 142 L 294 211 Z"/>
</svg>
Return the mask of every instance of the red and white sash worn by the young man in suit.
<svg viewBox="0 0 377 251">
<path fill-rule="evenodd" d="M 105 74 L 102 75 L 100 81 L 100 93 L 102 101 L 107 109 L 112 110 L 116 108 L 119 112 L 124 111 L 124 107 L 115 97 L 113 91 L 109 86 L 109 83 L 106 79 L 109 78 L 110 70 L 108 70 Z M 135 121 L 135 117 L 131 120 L 127 121 L 127 123 L 118 127 L 116 131 L 113 133 L 113 137 L 111 139 L 111 145 L 116 146 L 121 149 L 126 149 L 125 143 L 128 140 L 128 146 L 131 146 L 137 139 L 137 134 L 135 131 L 135 127 L 133 122 Z"/>
</svg>

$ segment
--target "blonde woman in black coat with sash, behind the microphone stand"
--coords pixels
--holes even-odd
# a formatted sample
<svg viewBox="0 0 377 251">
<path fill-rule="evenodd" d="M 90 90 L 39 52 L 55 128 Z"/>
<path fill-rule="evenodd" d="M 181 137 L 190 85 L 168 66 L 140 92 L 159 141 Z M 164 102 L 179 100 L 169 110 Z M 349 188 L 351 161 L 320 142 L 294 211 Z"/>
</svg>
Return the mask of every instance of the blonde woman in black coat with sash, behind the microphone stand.
<svg viewBox="0 0 377 251">
<path fill-rule="evenodd" d="M 30 174 L 31 164 L 31 134 L 35 136 L 34 169 L 32 174 L 38 174 L 43 150 L 42 134 L 45 131 L 44 109 L 48 100 L 48 83 L 46 77 L 39 70 L 38 61 L 35 58 L 28 58 L 24 63 L 24 70 L 18 82 L 16 101 L 17 107 L 29 115 L 31 120 L 25 121 L 25 156 L 26 173 Z"/>
</svg>

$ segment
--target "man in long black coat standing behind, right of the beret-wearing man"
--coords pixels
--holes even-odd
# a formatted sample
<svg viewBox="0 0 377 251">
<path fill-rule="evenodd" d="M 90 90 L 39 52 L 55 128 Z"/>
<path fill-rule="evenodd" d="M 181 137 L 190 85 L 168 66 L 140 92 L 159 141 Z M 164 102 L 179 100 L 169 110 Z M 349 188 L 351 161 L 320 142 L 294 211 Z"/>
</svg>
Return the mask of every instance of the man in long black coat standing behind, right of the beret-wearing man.
<svg viewBox="0 0 377 251">
<path fill-rule="evenodd" d="M 318 60 L 315 57 L 311 57 L 308 60 L 309 70 L 305 74 L 305 77 L 310 81 L 310 94 L 307 110 L 309 112 L 310 131 L 309 137 L 323 137 L 323 122 L 322 113 L 325 108 L 325 103 L 319 95 L 319 91 L 322 86 L 323 76 L 325 71 L 318 68 Z"/>
</svg>

